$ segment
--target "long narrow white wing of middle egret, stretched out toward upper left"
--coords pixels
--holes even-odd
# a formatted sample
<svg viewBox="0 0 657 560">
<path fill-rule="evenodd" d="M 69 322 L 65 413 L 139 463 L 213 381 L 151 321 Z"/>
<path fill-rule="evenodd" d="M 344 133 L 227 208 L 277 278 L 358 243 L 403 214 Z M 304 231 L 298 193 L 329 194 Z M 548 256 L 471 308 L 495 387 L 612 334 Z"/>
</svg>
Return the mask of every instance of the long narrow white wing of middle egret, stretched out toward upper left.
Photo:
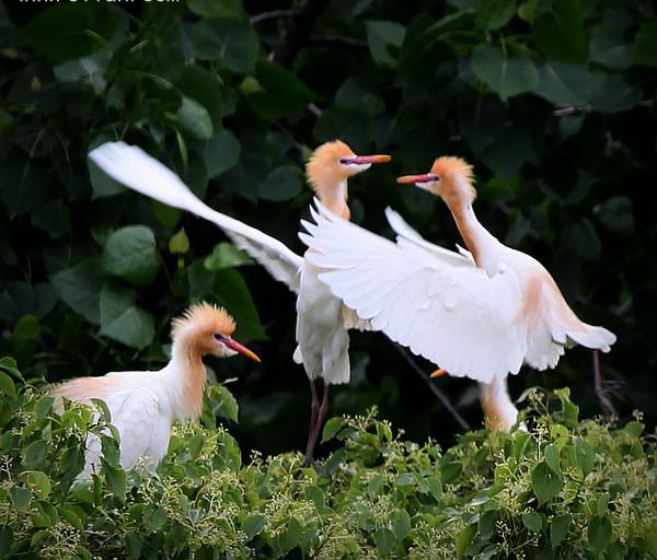
<svg viewBox="0 0 657 560">
<path fill-rule="evenodd" d="M 278 281 L 299 291 L 299 267 L 303 258 L 283 243 L 199 200 L 169 167 L 143 150 L 125 142 L 106 142 L 89 158 L 107 175 L 127 187 L 165 205 L 187 210 L 216 223 L 241 249 L 255 258 Z"/>
</svg>

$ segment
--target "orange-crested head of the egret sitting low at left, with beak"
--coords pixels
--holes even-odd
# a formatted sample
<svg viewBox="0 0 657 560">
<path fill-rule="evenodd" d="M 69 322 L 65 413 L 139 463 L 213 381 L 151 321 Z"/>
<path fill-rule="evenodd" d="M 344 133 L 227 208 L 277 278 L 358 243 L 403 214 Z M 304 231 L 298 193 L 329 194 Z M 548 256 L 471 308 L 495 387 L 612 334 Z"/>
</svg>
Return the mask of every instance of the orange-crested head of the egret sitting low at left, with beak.
<svg viewBox="0 0 657 560">
<path fill-rule="evenodd" d="M 241 353 L 260 362 L 254 352 L 232 339 L 234 330 L 235 322 L 223 307 L 199 302 L 173 319 L 171 337 L 174 346 L 184 342 L 200 355 L 228 358 Z"/>
</svg>

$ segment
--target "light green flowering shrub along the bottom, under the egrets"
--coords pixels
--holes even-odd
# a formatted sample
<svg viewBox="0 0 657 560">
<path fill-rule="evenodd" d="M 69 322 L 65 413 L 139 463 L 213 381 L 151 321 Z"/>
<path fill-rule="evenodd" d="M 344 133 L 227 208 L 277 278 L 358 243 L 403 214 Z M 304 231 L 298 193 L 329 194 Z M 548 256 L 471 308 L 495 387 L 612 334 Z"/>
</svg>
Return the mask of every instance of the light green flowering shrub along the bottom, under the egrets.
<svg viewBox="0 0 657 560">
<path fill-rule="evenodd" d="M 657 558 L 655 438 L 638 419 L 579 420 L 567 389 L 530 389 L 527 429 L 469 432 L 445 452 L 376 409 L 334 418 L 336 448 L 311 468 L 299 453 L 244 463 L 226 429 L 186 424 L 157 471 L 125 472 L 105 436 L 102 472 L 72 483 L 103 412 L 59 415 L 12 360 L 0 369 L 9 558 Z"/>
</svg>

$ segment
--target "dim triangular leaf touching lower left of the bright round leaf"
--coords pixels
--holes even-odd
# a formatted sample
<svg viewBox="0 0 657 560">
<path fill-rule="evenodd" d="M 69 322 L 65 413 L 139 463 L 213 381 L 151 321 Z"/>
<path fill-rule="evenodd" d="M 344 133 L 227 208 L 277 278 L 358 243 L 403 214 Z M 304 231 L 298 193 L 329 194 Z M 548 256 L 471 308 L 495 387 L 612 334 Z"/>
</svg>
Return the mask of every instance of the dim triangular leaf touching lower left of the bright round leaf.
<svg viewBox="0 0 657 560">
<path fill-rule="evenodd" d="M 85 260 L 51 277 L 59 296 L 94 325 L 101 323 L 99 295 L 103 277 L 97 260 Z"/>
</svg>

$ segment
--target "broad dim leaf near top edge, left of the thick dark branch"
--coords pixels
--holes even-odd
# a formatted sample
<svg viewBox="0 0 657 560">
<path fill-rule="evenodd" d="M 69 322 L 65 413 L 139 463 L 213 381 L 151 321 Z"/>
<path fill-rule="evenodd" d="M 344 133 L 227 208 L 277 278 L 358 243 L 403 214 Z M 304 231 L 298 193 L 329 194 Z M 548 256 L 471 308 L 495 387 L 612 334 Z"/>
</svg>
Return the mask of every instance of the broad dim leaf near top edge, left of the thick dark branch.
<svg viewBox="0 0 657 560">
<path fill-rule="evenodd" d="M 192 47 L 201 60 L 221 60 L 233 72 L 251 73 L 260 44 L 249 21 L 218 18 L 203 20 L 193 27 Z"/>
</svg>

